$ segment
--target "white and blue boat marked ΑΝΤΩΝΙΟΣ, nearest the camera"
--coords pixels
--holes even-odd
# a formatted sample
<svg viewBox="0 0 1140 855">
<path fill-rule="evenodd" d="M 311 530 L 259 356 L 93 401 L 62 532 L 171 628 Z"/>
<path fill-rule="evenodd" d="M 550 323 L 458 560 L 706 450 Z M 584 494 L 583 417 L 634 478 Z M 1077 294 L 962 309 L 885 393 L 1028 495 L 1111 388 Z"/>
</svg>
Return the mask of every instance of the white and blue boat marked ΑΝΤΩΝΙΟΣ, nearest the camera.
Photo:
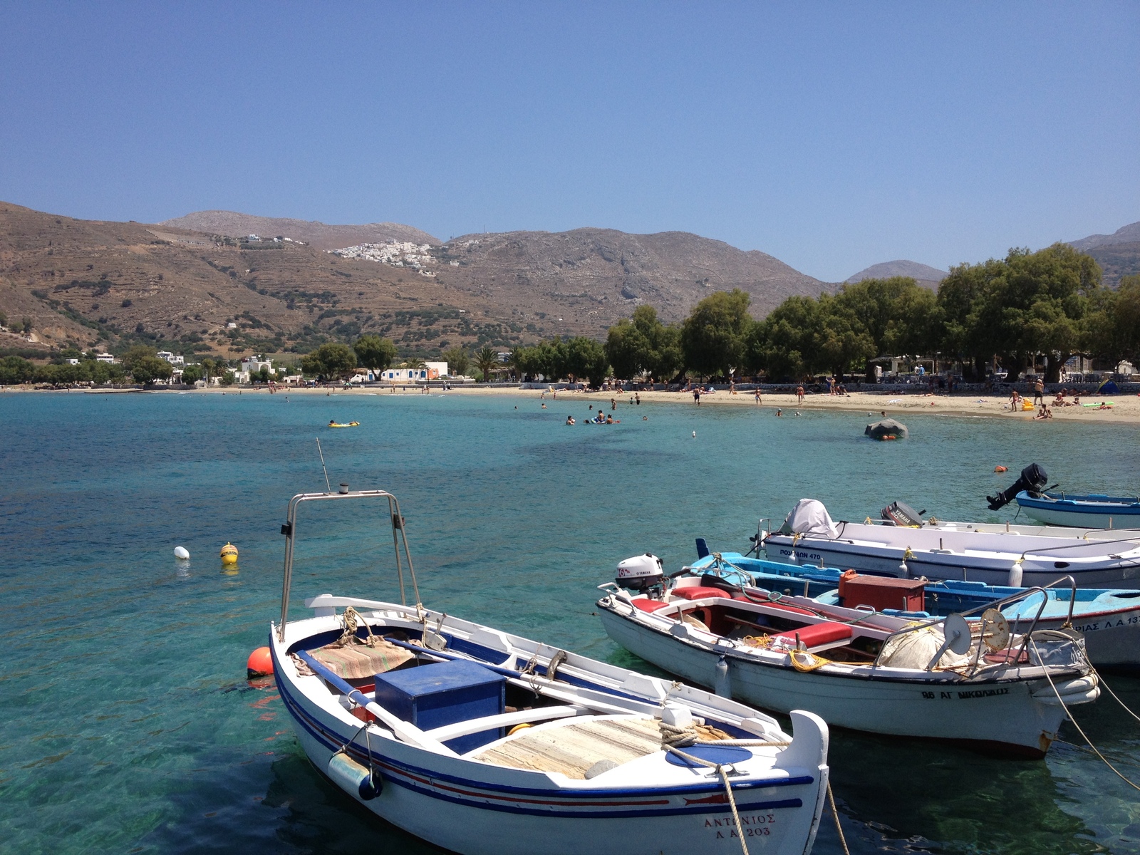
<svg viewBox="0 0 1140 855">
<path fill-rule="evenodd" d="M 792 711 L 789 736 L 730 699 L 424 609 L 396 498 L 342 489 L 290 502 L 270 650 L 301 746 L 350 798 L 457 853 L 811 850 L 823 719 Z M 299 506 L 352 498 L 389 514 L 401 603 L 324 594 L 290 620 Z"/>
</svg>

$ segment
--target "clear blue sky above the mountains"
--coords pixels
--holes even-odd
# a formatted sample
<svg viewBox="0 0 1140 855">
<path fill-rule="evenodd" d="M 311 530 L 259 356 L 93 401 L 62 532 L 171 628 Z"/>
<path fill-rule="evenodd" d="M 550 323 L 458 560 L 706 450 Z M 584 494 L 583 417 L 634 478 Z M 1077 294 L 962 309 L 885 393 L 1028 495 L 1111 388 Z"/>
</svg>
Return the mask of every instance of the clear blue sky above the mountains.
<svg viewBox="0 0 1140 855">
<path fill-rule="evenodd" d="M 3 0 L 0 199 L 945 269 L 1140 220 L 1140 2 Z"/>
</svg>

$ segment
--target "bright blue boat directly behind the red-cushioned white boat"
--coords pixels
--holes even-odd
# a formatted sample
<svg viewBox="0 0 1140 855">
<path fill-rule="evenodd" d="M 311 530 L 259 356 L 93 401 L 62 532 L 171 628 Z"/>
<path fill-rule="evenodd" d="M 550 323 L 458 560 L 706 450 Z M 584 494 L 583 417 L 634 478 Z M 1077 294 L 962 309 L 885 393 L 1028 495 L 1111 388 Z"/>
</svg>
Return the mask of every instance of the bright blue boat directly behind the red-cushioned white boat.
<svg viewBox="0 0 1140 855">
<path fill-rule="evenodd" d="M 783 564 L 739 552 L 708 554 L 702 544 L 703 539 L 698 542 L 698 552 L 706 554 L 693 562 L 691 570 L 694 573 L 708 573 L 734 585 L 752 585 L 784 595 L 812 597 L 824 605 L 844 604 L 839 583 L 845 571 L 839 568 Z M 1041 610 L 1041 628 L 1060 629 L 1072 624 L 1084 634 L 1089 661 L 1094 666 L 1140 670 L 1140 591 L 1059 585 L 1033 592 L 953 579 L 927 580 L 923 587 L 925 609 L 883 608 L 882 613 L 913 619 L 945 617 L 953 612 L 977 611 L 1024 593 L 1023 598 L 1000 609 L 1011 626 L 1027 625 Z M 1045 601 L 1043 610 L 1042 598 Z"/>
</svg>

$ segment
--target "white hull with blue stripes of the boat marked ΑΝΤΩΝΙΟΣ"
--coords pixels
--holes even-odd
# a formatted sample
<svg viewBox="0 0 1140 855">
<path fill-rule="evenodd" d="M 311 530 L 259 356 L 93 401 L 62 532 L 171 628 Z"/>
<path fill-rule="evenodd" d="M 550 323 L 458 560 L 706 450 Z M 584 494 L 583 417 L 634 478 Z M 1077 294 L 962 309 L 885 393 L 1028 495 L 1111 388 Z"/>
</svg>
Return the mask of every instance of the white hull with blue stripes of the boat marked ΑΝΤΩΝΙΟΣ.
<svg viewBox="0 0 1140 855">
<path fill-rule="evenodd" d="M 370 800 L 347 795 L 416 837 L 463 855 L 740 852 L 716 774 L 694 774 L 698 783 L 684 791 L 584 790 L 561 788 L 543 773 L 441 758 L 375 735 L 368 748 L 361 748 L 359 727 L 300 691 L 291 662 L 280 656 L 276 640 L 271 642 L 277 685 L 306 755 L 321 773 L 345 743 L 352 743 L 350 755 L 361 765 L 369 764 L 370 755 L 383 781 L 381 793 Z M 821 764 L 809 774 L 774 775 L 771 785 L 734 785 L 749 849 L 781 855 L 811 852 L 826 776 L 828 767 Z"/>
</svg>

